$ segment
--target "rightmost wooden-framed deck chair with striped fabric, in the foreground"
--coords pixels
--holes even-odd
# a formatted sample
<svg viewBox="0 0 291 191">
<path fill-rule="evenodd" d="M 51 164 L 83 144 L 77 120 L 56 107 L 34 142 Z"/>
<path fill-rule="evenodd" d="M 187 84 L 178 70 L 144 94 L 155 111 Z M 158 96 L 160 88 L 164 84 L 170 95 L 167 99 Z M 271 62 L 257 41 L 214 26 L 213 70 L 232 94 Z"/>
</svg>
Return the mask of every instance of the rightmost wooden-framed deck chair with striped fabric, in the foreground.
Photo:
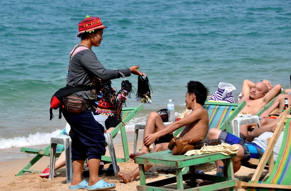
<svg viewBox="0 0 291 191">
<path fill-rule="evenodd" d="M 251 191 L 290 191 L 291 190 L 291 115 L 288 115 L 290 107 L 283 112 L 270 144 L 259 161 L 259 165 L 249 182 L 237 181 L 236 187 Z M 284 129 L 283 142 L 279 151 L 279 155 L 274 165 L 273 149 L 275 143 Z M 269 163 L 269 177 L 263 181 L 259 178 L 264 170 L 266 163 Z"/>
</svg>

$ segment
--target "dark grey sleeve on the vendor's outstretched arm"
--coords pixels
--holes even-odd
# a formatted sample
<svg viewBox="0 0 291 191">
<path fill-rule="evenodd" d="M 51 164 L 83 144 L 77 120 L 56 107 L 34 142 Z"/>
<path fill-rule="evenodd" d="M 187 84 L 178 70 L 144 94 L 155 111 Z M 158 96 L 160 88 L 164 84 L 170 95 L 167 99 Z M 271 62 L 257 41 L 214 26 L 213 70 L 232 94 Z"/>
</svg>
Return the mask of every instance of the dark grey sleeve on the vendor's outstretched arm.
<svg viewBox="0 0 291 191">
<path fill-rule="evenodd" d="M 118 73 L 117 70 L 113 69 L 105 69 L 104 66 L 100 63 L 97 59 L 94 52 L 87 52 L 81 58 L 82 66 L 91 72 L 92 74 L 98 76 L 101 80 L 111 80 L 115 78 L 120 78 L 121 75 Z M 121 73 L 125 76 L 130 76 L 130 69 L 119 69 Z"/>
</svg>

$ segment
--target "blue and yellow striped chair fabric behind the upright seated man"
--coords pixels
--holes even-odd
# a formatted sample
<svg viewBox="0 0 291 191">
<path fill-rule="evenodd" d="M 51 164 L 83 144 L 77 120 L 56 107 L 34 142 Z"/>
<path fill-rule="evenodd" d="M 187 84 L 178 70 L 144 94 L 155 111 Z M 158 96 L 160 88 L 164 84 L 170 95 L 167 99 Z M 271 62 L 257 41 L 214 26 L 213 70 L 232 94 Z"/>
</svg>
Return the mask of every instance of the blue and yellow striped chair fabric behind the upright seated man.
<svg viewBox="0 0 291 191">
<path fill-rule="evenodd" d="M 212 129 L 219 128 L 226 121 L 234 106 L 205 104 L 203 108 L 208 111 L 209 129 Z"/>
</svg>

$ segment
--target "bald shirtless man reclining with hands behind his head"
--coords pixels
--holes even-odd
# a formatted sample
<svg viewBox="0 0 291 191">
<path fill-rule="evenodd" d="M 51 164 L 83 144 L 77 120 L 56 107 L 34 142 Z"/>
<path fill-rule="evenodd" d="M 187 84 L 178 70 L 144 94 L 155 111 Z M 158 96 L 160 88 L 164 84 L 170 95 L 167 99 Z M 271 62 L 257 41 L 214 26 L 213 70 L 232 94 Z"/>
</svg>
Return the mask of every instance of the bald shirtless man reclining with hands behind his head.
<svg viewBox="0 0 291 191">
<path fill-rule="evenodd" d="M 270 91 L 266 84 L 257 82 L 251 89 L 250 80 L 244 80 L 242 84 L 242 99 L 246 105 L 243 107 L 242 112 L 247 112 L 256 115 L 266 104 L 268 104 L 276 95 L 281 92 L 281 85 L 275 85 Z"/>
</svg>

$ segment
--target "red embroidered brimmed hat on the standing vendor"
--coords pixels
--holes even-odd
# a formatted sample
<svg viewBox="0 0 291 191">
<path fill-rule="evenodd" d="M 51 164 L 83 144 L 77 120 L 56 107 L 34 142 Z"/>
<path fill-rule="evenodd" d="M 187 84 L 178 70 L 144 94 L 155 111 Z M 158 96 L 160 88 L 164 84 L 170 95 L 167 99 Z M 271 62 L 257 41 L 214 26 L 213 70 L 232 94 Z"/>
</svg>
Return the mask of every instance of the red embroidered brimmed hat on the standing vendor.
<svg viewBox="0 0 291 191">
<path fill-rule="evenodd" d="M 86 16 L 81 22 L 78 24 L 79 33 L 77 38 L 84 32 L 91 33 L 95 29 L 106 29 L 107 26 L 103 25 L 99 17 L 89 17 Z"/>
</svg>

